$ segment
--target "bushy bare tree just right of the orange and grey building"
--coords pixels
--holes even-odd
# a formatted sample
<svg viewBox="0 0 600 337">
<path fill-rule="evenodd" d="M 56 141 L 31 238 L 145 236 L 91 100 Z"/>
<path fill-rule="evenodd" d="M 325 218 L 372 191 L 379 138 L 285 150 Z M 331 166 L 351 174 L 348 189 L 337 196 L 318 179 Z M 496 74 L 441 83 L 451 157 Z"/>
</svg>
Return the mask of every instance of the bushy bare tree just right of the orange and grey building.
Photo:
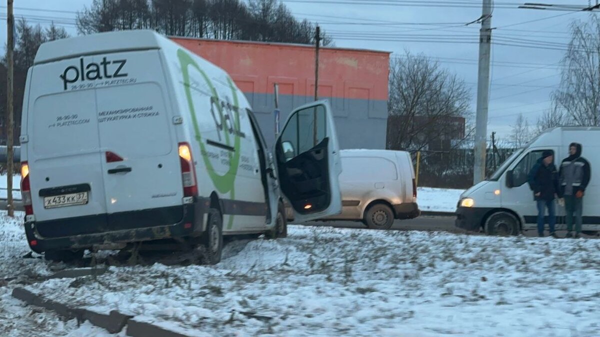
<svg viewBox="0 0 600 337">
<path fill-rule="evenodd" d="M 438 62 L 409 52 L 401 59 L 392 59 L 388 148 L 420 151 L 455 137 L 456 128 L 464 128 L 464 123 L 456 125 L 456 118 L 471 115 L 470 99 L 464 81 L 440 68 Z"/>
</svg>

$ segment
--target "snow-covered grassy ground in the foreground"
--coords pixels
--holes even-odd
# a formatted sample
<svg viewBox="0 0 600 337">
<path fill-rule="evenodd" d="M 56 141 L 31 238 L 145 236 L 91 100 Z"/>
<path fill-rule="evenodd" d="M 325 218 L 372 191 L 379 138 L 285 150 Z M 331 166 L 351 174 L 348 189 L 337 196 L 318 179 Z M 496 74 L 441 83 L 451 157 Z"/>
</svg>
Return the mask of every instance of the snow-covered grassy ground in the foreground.
<svg viewBox="0 0 600 337">
<path fill-rule="evenodd" d="M 21 258 L 19 223 L 0 220 L 2 336 L 107 335 L 23 305 L 16 286 L 194 336 L 600 335 L 600 240 L 290 226 L 287 239 L 230 243 L 217 266 L 35 283 L 25 270 L 50 270 Z"/>
</svg>

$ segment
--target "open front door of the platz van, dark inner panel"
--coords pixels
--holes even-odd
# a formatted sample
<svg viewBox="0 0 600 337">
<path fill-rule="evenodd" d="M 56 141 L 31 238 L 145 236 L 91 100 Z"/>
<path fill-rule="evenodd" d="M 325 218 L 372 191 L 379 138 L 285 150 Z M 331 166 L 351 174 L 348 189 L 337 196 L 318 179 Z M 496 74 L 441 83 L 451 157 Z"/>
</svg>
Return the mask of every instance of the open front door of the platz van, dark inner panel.
<svg viewBox="0 0 600 337">
<path fill-rule="evenodd" d="M 275 166 L 294 220 L 340 214 L 340 147 L 329 102 L 293 110 L 285 125 L 275 142 Z"/>
</svg>

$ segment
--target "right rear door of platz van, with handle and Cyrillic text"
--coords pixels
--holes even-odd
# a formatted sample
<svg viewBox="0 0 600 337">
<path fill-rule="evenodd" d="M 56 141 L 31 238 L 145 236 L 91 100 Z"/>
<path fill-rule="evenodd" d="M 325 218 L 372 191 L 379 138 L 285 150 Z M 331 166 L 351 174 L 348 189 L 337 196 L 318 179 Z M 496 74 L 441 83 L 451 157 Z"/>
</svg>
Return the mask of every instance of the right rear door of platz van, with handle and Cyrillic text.
<svg viewBox="0 0 600 337">
<path fill-rule="evenodd" d="M 121 67 L 123 76 L 118 85 L 96 89 L 109 226 L 178 222 L 181 166 L 160 54 L 149 50 L 98 58 L 112 62 L 109 73 Z"/>
</svg>

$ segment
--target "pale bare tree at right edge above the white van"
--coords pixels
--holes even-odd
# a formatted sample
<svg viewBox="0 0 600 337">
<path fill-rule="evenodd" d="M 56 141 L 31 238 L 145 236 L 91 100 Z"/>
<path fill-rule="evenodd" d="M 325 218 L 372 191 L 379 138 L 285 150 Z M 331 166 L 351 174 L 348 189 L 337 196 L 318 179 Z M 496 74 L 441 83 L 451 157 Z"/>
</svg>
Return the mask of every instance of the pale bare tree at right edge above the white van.
<svg viewBox="0 0 600 337">
<path fill-rule="evenodd" d="M 554 109 L 571 124 L 600 125 L 600 18 L 572 23 L 562 64 L 560 88 L 552 95 Z"/>
</svg>

